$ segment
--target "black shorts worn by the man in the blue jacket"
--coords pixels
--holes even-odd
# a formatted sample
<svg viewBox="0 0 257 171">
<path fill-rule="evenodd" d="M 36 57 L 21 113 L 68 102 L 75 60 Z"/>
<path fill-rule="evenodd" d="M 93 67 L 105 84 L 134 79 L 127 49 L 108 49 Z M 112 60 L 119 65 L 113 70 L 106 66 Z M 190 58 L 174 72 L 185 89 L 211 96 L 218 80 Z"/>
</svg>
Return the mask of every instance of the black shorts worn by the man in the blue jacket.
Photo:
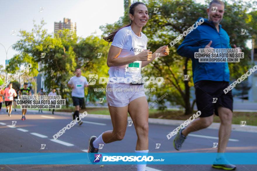
<svg viewBox="0 0 257 171">
<path fill-rule="evenodd" d="M 196 105 L 201 111 L 200 117 L 209 117 L 213 112 L 218 116 L 218 107 L 233 111 L 232 91 L 227 94 L 223 91 L 228 86 L 229 82 L 225 81 L 202 80 L 195 83 Z"/>
</svg>

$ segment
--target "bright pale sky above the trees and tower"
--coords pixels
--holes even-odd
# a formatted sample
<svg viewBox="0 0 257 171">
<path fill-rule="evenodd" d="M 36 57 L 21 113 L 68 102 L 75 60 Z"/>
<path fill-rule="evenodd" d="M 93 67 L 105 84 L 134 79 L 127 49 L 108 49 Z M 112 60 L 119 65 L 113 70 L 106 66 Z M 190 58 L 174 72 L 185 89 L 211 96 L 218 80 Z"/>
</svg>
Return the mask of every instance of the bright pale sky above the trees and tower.
<svg viewBox="0 0 257 171">
<path fill-rule="evenodd" d="M 196 1 L 204 4 L 204 0 Z M 39 24 L 44 19 L 44 28 L 53 34 L 54 22 L 70 18 L 77 23 L 77 35 L 85 38 L 94 32 L 100 36 L 99 26 L 112 24 L 124 15 L 123 0 L 0 0 L 0 6 L 0 43 L 6 50 L 20 39 L 17 36 L 20 30 L 32 30 L 33 20 Z M 42 12 L 39 12 L 40 7 L 44 7 Z M 11 30 L 16 30 L 16 34 L 11 35 Z M 1 44 L 0 64 L 5 67 L 6 52 Z M 17 53 L 9 48 L 8 59 Z"/>
</svg>

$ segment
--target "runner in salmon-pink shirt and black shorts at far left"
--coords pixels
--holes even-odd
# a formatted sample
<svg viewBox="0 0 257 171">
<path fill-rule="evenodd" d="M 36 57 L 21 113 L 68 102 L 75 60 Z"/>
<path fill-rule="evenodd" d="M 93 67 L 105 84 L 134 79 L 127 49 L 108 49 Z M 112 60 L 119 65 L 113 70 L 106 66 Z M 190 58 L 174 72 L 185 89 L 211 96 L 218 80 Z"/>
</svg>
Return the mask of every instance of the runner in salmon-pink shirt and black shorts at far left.
<svg viewBox="0 0 257 171">
<path fill-rule="evenodd" d="M 13 97 L 17 96 L 15 89 L 12 88 L 13 84 L 10 83 L 7 88 L 4 89 L 4 103 L 6 106 L 6 112 L 9 117 L 11 117 L 12 105 L 13 105 Z"/>
</svg>

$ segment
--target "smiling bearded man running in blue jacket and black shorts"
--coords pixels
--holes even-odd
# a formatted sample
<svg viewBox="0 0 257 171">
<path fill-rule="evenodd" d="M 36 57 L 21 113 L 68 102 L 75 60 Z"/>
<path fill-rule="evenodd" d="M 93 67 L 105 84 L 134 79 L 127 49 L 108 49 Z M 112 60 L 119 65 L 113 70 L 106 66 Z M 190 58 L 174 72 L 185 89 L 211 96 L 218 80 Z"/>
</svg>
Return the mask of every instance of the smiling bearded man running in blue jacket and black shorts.
<svg viewBox="0 0 257 171">
<path fill-rule="evenodd" d="M 236 166 L 230 164 L 223 155 L 230 137 L 233 115 L 232 93 L 231 91 L 227 94 L 223 92 L 223 89 L 229 86 L 230 81 L 228 63 L 200 63 L 198 59 L 194 58 L 194 54 L 198 52 L 199 48 L 231 48 L 229 36 L 219 24 L 223 19 L 224 8 L 225 5 L 222 1 L 211 1 L 207 9 L 208 19 L 204 19 L 204 22 L 188 34 L 178 47 L 177 52 L 179 55 L 192 59 L 196 104 L 198 110 L 201 111 L 201 115 L 186 128 L 180 129 L 173 145 L 176 150 L 180 150 L 182 143 L 189 133 L 207 128 L 212 124 L 213 113 L 215 113 L 220 117 L 221 123 L 218 141 L 219 155 L 212 167 L 235 170 Z M 198 22 L 200 19 L 201 17 L 198 19 Z M 234 48 L 239 47 L 234 45 Z"/>
</svg>

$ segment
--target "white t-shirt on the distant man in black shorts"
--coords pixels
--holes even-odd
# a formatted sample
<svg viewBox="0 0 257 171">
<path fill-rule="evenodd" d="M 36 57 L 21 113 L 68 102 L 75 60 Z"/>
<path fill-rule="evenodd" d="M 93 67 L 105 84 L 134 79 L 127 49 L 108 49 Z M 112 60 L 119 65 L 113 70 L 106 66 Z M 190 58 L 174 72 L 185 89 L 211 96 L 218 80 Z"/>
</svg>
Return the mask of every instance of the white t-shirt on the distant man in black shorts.
<svg viewBox="0 0 257 171">
<path fill-rule="evenodd" d="M 79 98 L 84 98 L 85 97 L 85 91 L 84 91 L 84 86 L 88 84 L 86 77 L 80 76 L 74 76 L 70 79 L 68 84 L 73 84 L 75 86 L 74 89 L 72 89 L 72 97 L 79 97 Z"/>
</svg>

